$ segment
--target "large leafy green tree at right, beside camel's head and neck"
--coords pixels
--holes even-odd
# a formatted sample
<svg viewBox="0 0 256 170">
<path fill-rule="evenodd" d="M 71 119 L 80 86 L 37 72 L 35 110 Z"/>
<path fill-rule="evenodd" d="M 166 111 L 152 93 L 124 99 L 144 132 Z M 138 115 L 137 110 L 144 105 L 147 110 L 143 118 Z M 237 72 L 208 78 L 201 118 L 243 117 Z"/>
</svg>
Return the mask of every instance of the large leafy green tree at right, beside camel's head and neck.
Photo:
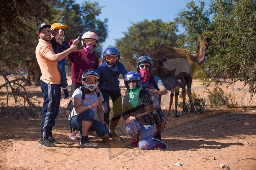
<svg viewBox="0 0 256 170">
<path fill-rule="evenodd" d="M 177 14 L 174 21 L 182 24 L 185 33 L 178 45 L 189 51 L 196 48 L 196 34 L 204 30 L 215 30 L 208 56 L 202 67 L 215 82 L 219 78 L 244 81 L 251 94 L 255 93 L 256 80 L 256 1 L 213 0 L 209 10 L 204 2 L 187 3 L 187 8 Z M 212 15 L 212 21 L 209 19 Z"/>
</svg>

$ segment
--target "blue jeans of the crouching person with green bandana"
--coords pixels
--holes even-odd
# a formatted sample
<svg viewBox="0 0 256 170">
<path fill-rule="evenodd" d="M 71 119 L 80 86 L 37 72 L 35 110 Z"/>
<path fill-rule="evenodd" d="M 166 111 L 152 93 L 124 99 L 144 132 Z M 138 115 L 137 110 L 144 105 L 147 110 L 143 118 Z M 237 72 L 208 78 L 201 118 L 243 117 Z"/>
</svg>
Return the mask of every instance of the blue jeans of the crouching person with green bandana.
<svg viewBox="0 0 256 170">
<path fill-rule="evenodd" d="M 125 123 L 124 127 L 128 135 L 132 138 L 139 135 L 139 148 L 141 150 L 153 149 L 157 146 L 157 142 L 152 140 L 155 133 L 155 127 L 153 125 L 141 125 L 135 120 L 129 124 Z"/>
</svg>

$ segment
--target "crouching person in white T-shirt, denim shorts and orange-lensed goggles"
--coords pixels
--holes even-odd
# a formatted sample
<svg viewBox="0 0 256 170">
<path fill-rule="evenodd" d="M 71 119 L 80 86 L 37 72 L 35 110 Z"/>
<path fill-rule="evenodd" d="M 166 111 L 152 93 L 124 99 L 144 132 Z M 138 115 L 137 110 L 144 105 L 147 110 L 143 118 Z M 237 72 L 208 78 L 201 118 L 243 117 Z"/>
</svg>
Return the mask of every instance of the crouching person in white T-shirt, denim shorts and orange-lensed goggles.
<svg viewBox="0 0 256 170">
<path fill-rule="evenodd" d="M 96 93 L 99 84 L 99 74 L 93 70 L 86 70 L 82 75 L 82 86 L 77 88 L 73 95 L 73 110 L 70 112 L 70 125 L 82 134 L 81 146 L 92 146 L 88 135 L 106 137 L 108 127 L 104 122 L 101 92 Z M 97 110 L 99 120 L 93 119 Z"/>
</svg>

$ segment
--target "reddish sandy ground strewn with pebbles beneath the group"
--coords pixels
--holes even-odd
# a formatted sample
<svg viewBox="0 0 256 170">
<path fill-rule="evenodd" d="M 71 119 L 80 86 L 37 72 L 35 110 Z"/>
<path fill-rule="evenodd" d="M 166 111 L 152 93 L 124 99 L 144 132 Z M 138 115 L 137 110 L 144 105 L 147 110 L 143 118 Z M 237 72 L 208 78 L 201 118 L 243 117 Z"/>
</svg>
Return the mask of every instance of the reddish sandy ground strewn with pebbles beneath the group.
<svg viewBox="0 0 256 170">
<path fill-rule="evenodd" d="M 79 146 L 80 140 L 68 138 L 68 99 L 62 99 L 60 112 L 53 129 L 55 139 L 62 141 L 58 148 L 39 147 L 41 119 L 31 117 L 16 119 L 11 115 L 0 116 L 0 169 L 226 169 L 255 170 L 256 168 L 256 107 L 255 97 L 250 100 L 243 83 L 222 89 L 232 94 L 239 108 L 209 108 L 204 113 L 183 113 L 180 119 L 168 117 L 163 140 L 167 149 L 141 151 L 130 147 L 130 139 L 122 133 L 121 140 L 102 143 L 92 139 L 93 146 Z M 201 83 L 194 80 L 193 91 L 198 96 L 207 96 Z M 70 82 L 69 82 L 70 85 Z M 70 88 L 70 87 L 69 87 Z M 214 86 L 209 89 L 214 88 Z M 122 94 L 124 84 L 121 80 Z M 40 87 L 30 87 L 29 94 L 42 106 Z M 64 94 L 62 94 L 62 97 Z M 11 103 L 10 98 L 10 102 Z M 0 96 L 6 103 L 6 96 Z M 167 115 L 169 95 L 162 98 L 162 108 Z M 246 106 L 246 107 L 245 107 Z M 245 125 L 245 123 L 249 125 Z M 119 121 L 120 129 L 124 120 Z M 77 135 L 78 136 L 78 135 Z M 178 166 L 175 163 L 181 162 Z"/>
</svg>

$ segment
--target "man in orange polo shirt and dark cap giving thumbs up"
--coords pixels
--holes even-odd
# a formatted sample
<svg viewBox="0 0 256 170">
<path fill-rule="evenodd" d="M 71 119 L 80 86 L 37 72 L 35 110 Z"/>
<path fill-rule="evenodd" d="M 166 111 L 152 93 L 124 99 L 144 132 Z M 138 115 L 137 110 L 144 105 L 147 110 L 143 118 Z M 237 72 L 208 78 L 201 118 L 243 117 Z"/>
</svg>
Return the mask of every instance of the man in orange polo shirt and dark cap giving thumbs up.
<svg viewBox="0 0 256 170">
<path fill-rule="evenodd" d="M 77 51 L 78 38 L 67 50 L 55 54 L 50 43 L 51 25 L 42 23 L 38 26 L 39 43 L 36 47 L 36 59 L 42 72 L 41 90 L 44 98 L 41 115 L 41 141 L 39 146 L 57 147 L 60 142 L 52 137 L 52 127 L 55 125 L 55 117 L 60 107 L 60 72 L 58 61 L 65 58 L 69 53 Z"/>
</svg>

